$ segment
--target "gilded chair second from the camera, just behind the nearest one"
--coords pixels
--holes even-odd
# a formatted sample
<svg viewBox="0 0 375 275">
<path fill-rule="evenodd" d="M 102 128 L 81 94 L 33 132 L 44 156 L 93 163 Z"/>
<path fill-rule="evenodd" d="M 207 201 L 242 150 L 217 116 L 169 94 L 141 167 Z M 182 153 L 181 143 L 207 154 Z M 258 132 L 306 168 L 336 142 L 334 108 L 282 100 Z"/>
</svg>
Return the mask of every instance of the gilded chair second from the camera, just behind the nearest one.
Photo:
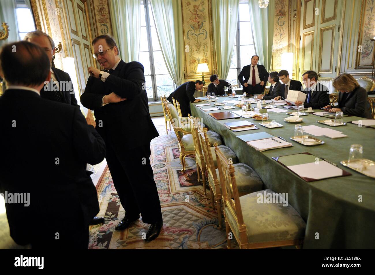
<svg viewBox="0 0 375 275">
<path fill-rule="evenodd" d="M 219 179 L 217 178 L 217 175 L 219 173 L 217 169 L 217 158 L 216 154 L 214 152 L 215 147 L 211 148 L 211 144 L 208 141 L 207 138 L 207 128 L 201 128 L 198 129 L 199 138 L 203 147 L 203 155 L 204 155 L 204 161 L 206 165 L 206 170 L 208 172 L 208 184 L 210 185 L 211 190 L 211 202 L 212 207 L 214 208 L 214 204 L 216 204 L 217 207 L 217 216 L 219 219 L 219 228 L 222 227 L 222 211 L 221 211 L 221 186 Z M 215 144 L 218 146 L 218 144 Z M 222 149 L 222 152 L 225 152 L 224 154 L 228 157 L 228 159 L 231 160 L 233 163 L 237 161 L 236 155 L 229 147 L 220 147 Z M 232 152 L 232 153 L 231 153 Z M 257 175 L 257 173 L 248 165 L 244 163 L 235 164 L 236 167 L 238 167 L 239 174 L 238 176 L 241 179 L 246 179 L 241 181 L 241 184 L 239 187 L 239 192 L 243 195 L 255 192 L 258 190 L 261 190 L 263 187 L 262 180 Z M 248 180 L 249 179 L 249 180 Z"/>
</svg>

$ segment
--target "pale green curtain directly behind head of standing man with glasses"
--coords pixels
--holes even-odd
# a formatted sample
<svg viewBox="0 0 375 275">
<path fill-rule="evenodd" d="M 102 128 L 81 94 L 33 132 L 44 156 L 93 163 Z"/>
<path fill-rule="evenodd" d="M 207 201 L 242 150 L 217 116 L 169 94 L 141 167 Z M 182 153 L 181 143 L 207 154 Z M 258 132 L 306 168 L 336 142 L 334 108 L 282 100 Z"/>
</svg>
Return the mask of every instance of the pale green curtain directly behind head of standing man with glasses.
<svg viewBox="0 0 375 275">
<path fill-rule="evenodd" d="M 113 36 L 121 59 L 138 61 L 141 39 L 141 2 L 139 0 L 112 0 L 110 3 Z"/>
</svg>

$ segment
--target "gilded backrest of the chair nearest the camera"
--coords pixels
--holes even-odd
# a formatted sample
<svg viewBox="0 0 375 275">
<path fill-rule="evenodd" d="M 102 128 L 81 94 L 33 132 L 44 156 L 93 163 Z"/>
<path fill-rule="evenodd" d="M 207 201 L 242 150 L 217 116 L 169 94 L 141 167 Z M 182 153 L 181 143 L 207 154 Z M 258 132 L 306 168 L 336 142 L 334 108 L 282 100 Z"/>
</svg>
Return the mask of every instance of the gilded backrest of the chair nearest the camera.
<svg viewBox="0 0 375 275">
<path fill-rule="evenodd" d="M 231 211 L 231 214 L 240 227 L 245 226 L 243 222 L 236 177 L 234 175 L 233 162 L 228 160 L 217 146 L 215 146 L 215 153 L 217 168 L 219 169 L 224 208 L 227 207 L 229 211 Z"/>
</svg>

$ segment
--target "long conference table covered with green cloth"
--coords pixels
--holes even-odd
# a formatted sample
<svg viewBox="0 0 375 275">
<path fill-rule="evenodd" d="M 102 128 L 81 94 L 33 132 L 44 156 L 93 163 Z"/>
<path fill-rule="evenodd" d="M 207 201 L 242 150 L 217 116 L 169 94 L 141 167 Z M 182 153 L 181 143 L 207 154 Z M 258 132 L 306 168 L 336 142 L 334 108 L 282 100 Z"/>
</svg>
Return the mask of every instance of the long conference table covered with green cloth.
<svg viewBox="0 0 375 275">
<path fill-rule="evenodd" d="M 219 97 L 219 102 L 224 100 L 236 100 L 236 98 Z M 202 103 L 207 103 L 203 101 Z M 196 103 L 197 104 L 197 103 Z M 198 103 L 199 104 L 199 103 Z M 210 102 L 212 107 L 214 102 Z M 229 105 L 234 106 L 236 103 Z M 264 105 L 263 105 L 264 106 Z M 345 126 L 330 127 L 318 123 L 317 120 L 328 119 L 313 115 L 300 116 L 299 123 L 284 121 L 289 115 L 286 113 L 269 112 L 269 120 L 281 123 L 281 128 L 266 128 L 259 125 L 259 121 L 245 119 L 216 120 L 208 113 L 221 111 L 236 111 L 236 109 L 203 111 L 190 103 L 191 115 L 199 117 L 206 127 L 217 132 L 223 138 L 223 143 L 230 147 L 237 156 L 238 162 L 244 162 L 251 166 L 261 177 L 264 189 L 271 189 L 276 193 L 288 193 L 291 204 L 306 221 L 306 233 L 303 248 L 375 248 L 375 180 L 340 164 L 347 160 L 351 144 L 363 145 L 363 158 L 375 160 L 375 129 L 359 127 L 351 123 Z M 256 107 L 256 104 L 252 104 Z M 281 107 L 278 107 L 284 109 Z M 321 111 L 321 110 L 315 110 Z M 363 119 L 361 117 L 348 116 L 343 121 Z M 223 124 L 238 120 L 248 120 L 258 126 L 259 129 L 233 132 Z M 290 140 L 294 135 L 296 124 L 317 125 L 329 127 L 342 132 L 348 137 L 331 139 L 324 136 L 316 137 L 325 144 L 318 146 L 304 146 Z M 237 135 L 267 132 L 274 136 L 281 136 L 294 146 L 259 152 L 237 138 Z M 272 157 L 292 155 L 309 152 L 318 158 L 327 159 L 339 168 L 350 172 L 352 175 L 345 177 L 327 178 L 319 181 L 306 182 L 289 169 L 285 168 Z"/>
</svg>

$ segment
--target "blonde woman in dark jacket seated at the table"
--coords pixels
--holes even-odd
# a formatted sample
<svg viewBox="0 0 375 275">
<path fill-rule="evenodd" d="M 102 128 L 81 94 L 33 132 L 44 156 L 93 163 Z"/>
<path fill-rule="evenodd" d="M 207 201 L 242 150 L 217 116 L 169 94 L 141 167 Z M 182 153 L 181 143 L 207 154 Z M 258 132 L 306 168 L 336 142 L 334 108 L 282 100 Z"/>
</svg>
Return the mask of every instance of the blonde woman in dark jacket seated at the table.
<svg viewBox="0 0 375 275">
<path fill-rule="evenodd" d="M 339 91 L 339 104 L 335 108 L 331 105 L 323 107 L 330 112 L 342 111 L 350 116 L 371 119 L 368 108 L 367 92 L 359 86 L 351 74 L 340 74 L 333 80 L 333 87 Z"/>
</svg>

